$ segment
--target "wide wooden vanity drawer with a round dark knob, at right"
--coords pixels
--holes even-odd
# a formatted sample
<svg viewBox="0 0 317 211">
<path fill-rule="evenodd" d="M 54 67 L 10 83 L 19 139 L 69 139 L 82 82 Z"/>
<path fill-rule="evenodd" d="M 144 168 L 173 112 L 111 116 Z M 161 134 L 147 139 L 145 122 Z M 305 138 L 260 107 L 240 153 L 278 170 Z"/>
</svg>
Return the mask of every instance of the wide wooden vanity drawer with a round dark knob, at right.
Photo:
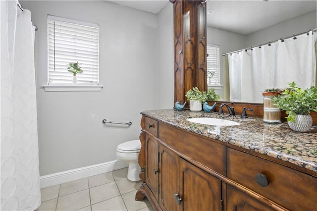
<svg viewBox="0 0 317 211">
<path fill-rule="evenodd" d="M 292 168 L 227 148 L 227 177 L 289 210 L 316 210 L 317 178 Z"/>
</svg>

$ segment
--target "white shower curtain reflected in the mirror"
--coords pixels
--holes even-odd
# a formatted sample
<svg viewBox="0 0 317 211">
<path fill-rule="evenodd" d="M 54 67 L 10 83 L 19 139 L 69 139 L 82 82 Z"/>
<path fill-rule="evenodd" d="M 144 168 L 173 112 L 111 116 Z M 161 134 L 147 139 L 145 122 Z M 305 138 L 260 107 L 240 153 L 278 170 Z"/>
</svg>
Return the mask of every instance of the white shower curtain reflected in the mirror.
<svg viewBox="0 0 317 211">
<path fill-rule="evenodd" d="M 271 46 L 232 53 L 229 58 L 230 101 L 263 103 L 266 88 L 316 84 L 316 33 L 279 40 Z"/>
</svg>

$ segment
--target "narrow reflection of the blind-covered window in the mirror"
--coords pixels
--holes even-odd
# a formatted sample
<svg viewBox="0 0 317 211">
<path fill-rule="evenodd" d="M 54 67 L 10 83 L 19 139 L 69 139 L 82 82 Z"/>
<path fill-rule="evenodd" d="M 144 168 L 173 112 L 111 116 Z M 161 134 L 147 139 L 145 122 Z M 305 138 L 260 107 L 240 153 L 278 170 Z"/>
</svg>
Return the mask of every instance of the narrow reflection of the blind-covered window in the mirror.
<svg viewBox="0 0 317 211">
<path fill-rule="evenodd" d="M 208 86 L 220 86 L 220 49 L 217 45 L 207 45 Z"/>
</svg>

